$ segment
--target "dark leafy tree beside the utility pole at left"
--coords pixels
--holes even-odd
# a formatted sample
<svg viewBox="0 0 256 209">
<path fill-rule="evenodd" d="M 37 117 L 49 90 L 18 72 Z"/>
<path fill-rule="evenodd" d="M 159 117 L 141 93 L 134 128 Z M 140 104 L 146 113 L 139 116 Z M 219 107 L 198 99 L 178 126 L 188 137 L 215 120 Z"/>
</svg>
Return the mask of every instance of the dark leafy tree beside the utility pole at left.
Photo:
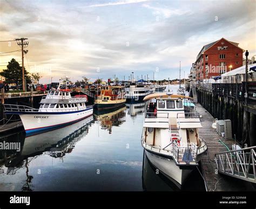
<svg viewBox="0 0 256 209">
<path fill-rule="evenodd" d="M 0 75 L 4 76 L 5 82 L 15 83 L 18 89 L 18 85 L 22 85 L 22 66 L 19 66 L 19 63 L 12 58 L 6 66 L 7 69 L 3 69 Z M 28 71 L 24 67 L 24 76 L 26 83 L 31 83 L 31 77 L 29 76 Z"/>
</svg>

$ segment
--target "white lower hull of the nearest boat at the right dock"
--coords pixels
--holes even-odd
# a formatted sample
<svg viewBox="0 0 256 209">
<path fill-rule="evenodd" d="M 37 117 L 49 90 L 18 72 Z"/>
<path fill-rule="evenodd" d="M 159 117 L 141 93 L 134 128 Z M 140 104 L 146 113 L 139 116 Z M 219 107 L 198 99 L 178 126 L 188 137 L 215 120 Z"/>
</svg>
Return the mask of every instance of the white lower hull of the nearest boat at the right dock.
<svg viewBox="0 0 256 209">
<path fill-rule="evenodd" d="M 150 162 L 161 172 L 163 172 L 167 177 L 172 178 L 180 185 L 183 185 L 186 178 L 190 175 L 192 170 L 179 169 L 179 166 L 175 164 L 173 159 L 161 157 L 158 155 L 154 155 L 151 152 L 146 151 L 147 158 L 149 158 Z"/>
</svg>

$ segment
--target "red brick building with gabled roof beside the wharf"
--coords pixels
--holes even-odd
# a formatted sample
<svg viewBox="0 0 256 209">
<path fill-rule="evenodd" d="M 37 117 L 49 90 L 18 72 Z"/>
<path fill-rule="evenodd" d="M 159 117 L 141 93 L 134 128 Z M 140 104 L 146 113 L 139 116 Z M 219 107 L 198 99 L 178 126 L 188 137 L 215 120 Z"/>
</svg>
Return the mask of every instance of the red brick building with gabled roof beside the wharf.
<svg viewBox="0 0 256 209">
<path fill-rule="evenodd" d="M 203 81 L 213 76 L 242 66 L 242 53 L 238 43 L 225 38 L 203 46 L 197 55 L 196 80 Z"/>
</svg>

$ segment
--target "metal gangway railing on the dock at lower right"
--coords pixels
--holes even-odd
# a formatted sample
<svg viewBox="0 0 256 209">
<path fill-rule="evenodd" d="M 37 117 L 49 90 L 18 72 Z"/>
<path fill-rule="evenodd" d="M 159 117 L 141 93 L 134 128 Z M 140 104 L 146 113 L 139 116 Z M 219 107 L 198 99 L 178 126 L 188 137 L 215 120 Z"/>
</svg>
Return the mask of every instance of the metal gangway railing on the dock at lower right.
<svg viewBox="0 0 256 209">
<path fill-rule="evenodd" d="M 256 146 L 215 154 L 219 173 L 256 183 Z"/>
</svg>

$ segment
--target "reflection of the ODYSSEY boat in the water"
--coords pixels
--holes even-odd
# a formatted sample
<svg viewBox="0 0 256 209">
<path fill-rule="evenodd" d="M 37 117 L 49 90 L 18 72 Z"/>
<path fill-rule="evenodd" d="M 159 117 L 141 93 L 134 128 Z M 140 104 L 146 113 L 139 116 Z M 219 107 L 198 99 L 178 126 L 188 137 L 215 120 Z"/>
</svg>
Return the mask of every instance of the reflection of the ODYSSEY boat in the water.
<svg viewBox="0 0 256 209">
<path fill-rule="evenodd" d="M 62 158 L 72 152 L 76 143 L 88 134 L 89 126 L 93 121 L 93 115 L 91 115 L 64 128 L 36 135 L 26 135 L 19 142 L 21 145 L 23 144 L 21 151 L 0 152 L 0 165 L 2 162 L 7 168 L 2 173 L 15 175 L 19 169 L 25 168 L 26 180 L 22 191 L 32 191 L 33 176 L 29 175 L 29 164 L 41 155 Z"/>
</svg>

